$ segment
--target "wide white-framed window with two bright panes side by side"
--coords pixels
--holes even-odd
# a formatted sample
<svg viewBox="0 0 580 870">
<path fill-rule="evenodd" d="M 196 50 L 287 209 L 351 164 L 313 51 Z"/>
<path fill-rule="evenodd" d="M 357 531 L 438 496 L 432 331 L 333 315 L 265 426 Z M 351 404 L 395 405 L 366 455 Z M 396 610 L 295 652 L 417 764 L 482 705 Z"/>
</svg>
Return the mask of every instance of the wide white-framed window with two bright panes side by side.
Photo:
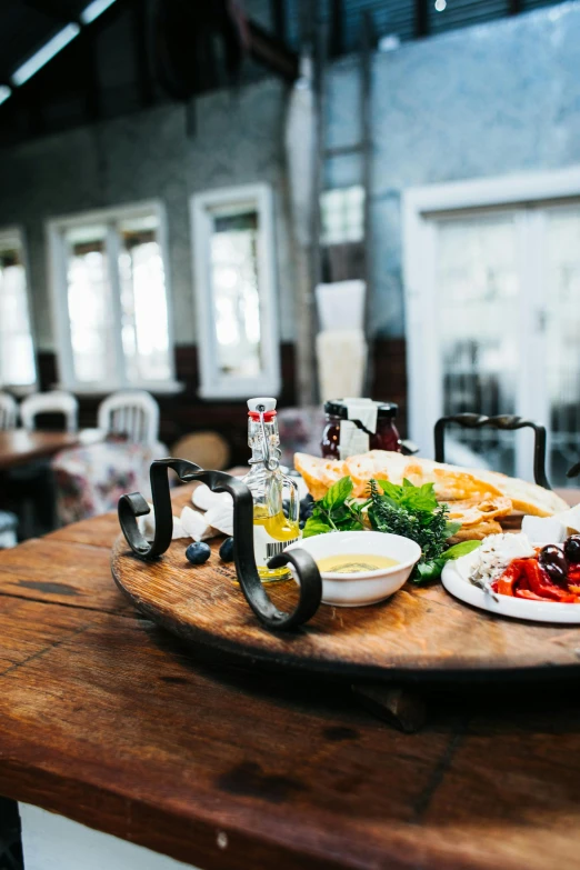
<svg viewBox="0 0 580 870">
<path fill-rule="evenodd" d="M 49 237 L 62 384 L 176 389 L 162 207 L 57 219 Z"/>
</svg>

